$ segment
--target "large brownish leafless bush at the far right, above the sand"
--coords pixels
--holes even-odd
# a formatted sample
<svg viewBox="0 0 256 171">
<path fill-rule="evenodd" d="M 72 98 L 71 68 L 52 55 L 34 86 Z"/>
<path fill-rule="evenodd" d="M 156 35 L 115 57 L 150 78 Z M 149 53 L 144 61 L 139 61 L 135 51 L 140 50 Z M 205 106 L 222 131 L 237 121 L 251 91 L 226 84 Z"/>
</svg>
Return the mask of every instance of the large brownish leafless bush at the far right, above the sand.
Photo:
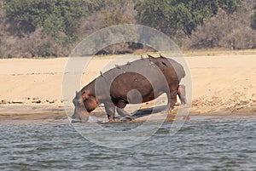
<svg viewBox="0 0 256 171">
<path fill-rule="evenodd" d="M 186 43 L 188 48 L 256 48 L 256 32 L 250 28 L 247 10 L 218 14 L 198 26 Z"/>
</svg>

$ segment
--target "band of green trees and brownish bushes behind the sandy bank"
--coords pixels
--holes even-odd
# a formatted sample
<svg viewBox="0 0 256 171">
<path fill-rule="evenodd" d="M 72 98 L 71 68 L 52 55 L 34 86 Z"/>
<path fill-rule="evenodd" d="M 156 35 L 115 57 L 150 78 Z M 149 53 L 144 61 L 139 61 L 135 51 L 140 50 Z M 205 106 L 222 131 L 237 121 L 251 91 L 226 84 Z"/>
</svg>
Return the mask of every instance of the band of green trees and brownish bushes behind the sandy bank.
<svg viewBox="0 0 256 171">
<path fill-rule="evenodd" d="M 120 24 L 164 32 L 181 48 L 256 48 L 254 0 L 0 0 L 0 57 L 67 56 L 84 37 Z M 120 43 L 101 50 L 145 50 Z"/>
</svg>

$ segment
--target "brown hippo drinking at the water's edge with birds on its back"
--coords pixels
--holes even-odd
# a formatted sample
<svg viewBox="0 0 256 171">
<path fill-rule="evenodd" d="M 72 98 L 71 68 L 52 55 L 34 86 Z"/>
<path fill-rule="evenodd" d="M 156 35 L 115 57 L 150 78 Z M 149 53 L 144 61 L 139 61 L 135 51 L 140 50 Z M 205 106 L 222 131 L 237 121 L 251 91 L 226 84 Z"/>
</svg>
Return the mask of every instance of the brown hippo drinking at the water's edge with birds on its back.
<svg viewBox="0 0 256 171">
<path fill-rule="evenodd" d="M 102 73 L 88 85 L 76 92 L 73 123 L 86 123 L 91 111 L 104 104 L 108 121 L 114 121 L 115 111 L 119 116 L 131 120 L 131 113 L 125 111 L 127 104 L 140 104 L 167 94 L 166 110 L 171 112 L 177 102 L 186 103 L 185 87 L 180 85 L 185 77 L 183 66 L 162 55 L 141 58 L 127 62 L 124 66 Z"/>
</svg>

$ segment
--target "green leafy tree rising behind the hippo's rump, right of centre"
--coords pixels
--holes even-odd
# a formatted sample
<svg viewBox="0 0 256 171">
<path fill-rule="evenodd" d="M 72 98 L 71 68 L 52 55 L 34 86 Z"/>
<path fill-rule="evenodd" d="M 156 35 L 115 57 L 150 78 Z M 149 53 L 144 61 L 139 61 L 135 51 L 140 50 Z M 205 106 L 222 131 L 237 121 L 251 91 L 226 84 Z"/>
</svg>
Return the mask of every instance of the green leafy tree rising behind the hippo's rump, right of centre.
<svg viewBox="0 0 256 171">
<path fill-rule="evenodd" d="M 169 36 L 179 31 L 189 36 L 219 8 L 233 13 L 240 3 L 241 0 L 140 0 L 136 5 L 137 19 Z"/>
</svg>

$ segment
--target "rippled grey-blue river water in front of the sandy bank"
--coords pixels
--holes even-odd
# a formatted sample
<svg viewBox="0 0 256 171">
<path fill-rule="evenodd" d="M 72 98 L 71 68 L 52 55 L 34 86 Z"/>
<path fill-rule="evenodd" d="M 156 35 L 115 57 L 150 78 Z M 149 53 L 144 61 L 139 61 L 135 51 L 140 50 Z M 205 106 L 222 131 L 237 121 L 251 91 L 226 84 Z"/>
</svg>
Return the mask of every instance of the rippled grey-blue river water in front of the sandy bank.
<svg viewBox="0 0 256 171">
<path fill-rule="evenodd" d="M 255 118 L 192 119 L 173 135 L 171 125 L 164 123 L 137 145 L 108 148 L 84 139 L 71 123 L 3 124 L 0 170 L 256 170 Z"/>
</svg>

